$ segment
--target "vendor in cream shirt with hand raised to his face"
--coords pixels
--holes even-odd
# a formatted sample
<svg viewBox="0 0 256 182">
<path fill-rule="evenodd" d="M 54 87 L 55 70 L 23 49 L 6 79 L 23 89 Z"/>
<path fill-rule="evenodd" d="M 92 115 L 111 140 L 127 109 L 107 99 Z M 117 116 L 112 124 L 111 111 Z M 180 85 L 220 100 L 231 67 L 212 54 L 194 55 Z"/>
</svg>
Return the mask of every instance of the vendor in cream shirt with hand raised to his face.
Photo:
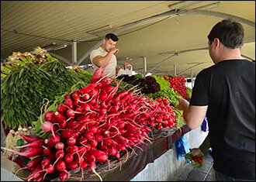
<svg viewBox="0 0 256 182">
<path fill-rule="evenodd" d="M 94 71 L 99 67 L 106 67 L 105 74 L 109 74 L 109 77 L 116 77 L 119 71 L 116 62 L 116 42 L 118 37 L 113 33 L 108 33 L 105 39 L 102 40 L 102 46 L 99 46 L 97 50 L 92 50 L 90 54 L 90 60 L 94 66 Z"/>
</svg>

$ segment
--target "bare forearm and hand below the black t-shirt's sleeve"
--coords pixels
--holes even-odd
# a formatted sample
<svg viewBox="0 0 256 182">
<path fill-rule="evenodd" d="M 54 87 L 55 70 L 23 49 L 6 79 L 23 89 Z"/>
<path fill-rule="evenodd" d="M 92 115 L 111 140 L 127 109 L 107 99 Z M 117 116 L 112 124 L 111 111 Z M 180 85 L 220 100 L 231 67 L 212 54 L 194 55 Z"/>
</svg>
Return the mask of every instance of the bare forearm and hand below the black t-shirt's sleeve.
<svg viewBox="0 0 256 182">
<path fill-rule="evenodd" d="M 176 108 L 183 110 L 183 118 L 186 125 L 188 125 L 190 129 L 197 129 L 199 125 L 202 124 L 203 119 L 206 117 L 208 105 L 189 105 L 189 101 L 186 101 L 184 98 L 177 99 L 179 104 L 176 106 Z"/>
</svg>

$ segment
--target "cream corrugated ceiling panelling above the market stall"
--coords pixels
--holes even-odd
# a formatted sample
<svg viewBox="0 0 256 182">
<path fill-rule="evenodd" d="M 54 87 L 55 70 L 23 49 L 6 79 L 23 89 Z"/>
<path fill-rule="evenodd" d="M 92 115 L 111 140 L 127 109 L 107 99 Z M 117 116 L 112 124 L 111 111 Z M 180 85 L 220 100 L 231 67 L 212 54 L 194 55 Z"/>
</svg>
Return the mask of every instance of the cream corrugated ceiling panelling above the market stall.
<svg viewBox="0 0 256 182">
<path fill-rule="evenodd" d="M 12 51 L 30 51 L 35 46 L 47 46 L 53 42 L 62 44 L 65 40 L 95 37 L 87 42 L 78 43 L 79 58 L 105 33 L 115 31 L 130 22 L 168 12 L 170 10 L 168 5 L 175 2 L 180 1 L 2 1 L 1 29 L 10 31 L 16 29 L 18 33 L 46 38 L 1 31 L 1 57 L 9 56 Z M 193 9 L 213 2 L 217 1 L 202 1 L 185 9 Z M 254 1 L 221 1 L 221 4 L 220 7 L 210 10 L 255 21 Z M 167 57 L 159 53 L 207 46 L 206 36 L 209 30 L 221 19 L 207 15 L 165 18 L 152 19 L 120 33 L 117 58 L 131 57 L 139 69 L 143 67 L 142 56 L 147 56 L 148 69 L 150 69 Z M 99 37 L 87 33 L 106 25 L 112 25 L 112 30 L 97 33 Z M 244 29 L 245 43 L 255 42 L 255 29 L 246 25 Z M 47 37 L 52 39 L 47 39 Z M 255 44 L 249 44 L 245 44 L 244 50 L 246 51 L 244 52 L 255 57 L 253 49 Z M 57 53 L 68 59 L 71 58 L 70 46 Z M 210 62 L 207 51 L 185 53 L 173 57 L 156 70 L 168 72 L 168 70 L 173 70 L 174 64 L 178 64 L 178 70 L 182 71 L 197 61 Z M 88 58 L 83 63 L 89 63 Z M 203 67 L 207 65 L 199 65 L 193 71 L 196 73 Z M 189 75 L 189 73 L 186 74 Z"/>
</svg>

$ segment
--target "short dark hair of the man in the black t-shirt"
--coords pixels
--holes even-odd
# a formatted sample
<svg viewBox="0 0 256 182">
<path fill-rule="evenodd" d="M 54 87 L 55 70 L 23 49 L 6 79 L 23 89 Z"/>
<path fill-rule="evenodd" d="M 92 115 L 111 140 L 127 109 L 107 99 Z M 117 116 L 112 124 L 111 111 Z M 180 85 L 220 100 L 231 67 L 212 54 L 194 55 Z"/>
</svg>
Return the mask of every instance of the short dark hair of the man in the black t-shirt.
<svg viewBox="0 0 256 182">
<path fill-rule="evenodd" d="M 230 49 L 240 48 L 244 44 L 244 28 L 239 22 L 232 19 L 223 19 L 218 22 L 207 36 L 210 43 L 218 38 L 224 46 Z"/>
</svg>

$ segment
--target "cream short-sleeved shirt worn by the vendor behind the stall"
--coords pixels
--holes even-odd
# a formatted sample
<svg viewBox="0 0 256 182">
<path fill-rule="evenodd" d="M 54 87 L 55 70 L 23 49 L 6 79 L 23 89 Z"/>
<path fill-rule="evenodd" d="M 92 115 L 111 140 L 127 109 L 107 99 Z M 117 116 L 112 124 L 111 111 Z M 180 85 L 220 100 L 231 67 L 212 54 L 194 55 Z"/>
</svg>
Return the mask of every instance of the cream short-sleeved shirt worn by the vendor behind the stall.
<svg viewBox="0 0 256 182">
<path fill-rule="evenodd" d="M 92 62 L 93 58 L 97 56 L 105 57 L 107 53 L 108 52 L 102 50 L 102 47 L 100 46 L 97 50 L 92 50 L 92 52 L 90 53 L 90 60 Z M 94 71 L 99 68 L 95 64 L 93 64 L 93 62 L 92 65 L 94 66 Z M 116 65 L 116 56 L 113 54 L 108 66 L 106 66 L 105 75 L 109 73 L 111 73 L 109 74 L 109 77 L 112 77 L 112 75 L 116 75 Z"/>
</svg>

